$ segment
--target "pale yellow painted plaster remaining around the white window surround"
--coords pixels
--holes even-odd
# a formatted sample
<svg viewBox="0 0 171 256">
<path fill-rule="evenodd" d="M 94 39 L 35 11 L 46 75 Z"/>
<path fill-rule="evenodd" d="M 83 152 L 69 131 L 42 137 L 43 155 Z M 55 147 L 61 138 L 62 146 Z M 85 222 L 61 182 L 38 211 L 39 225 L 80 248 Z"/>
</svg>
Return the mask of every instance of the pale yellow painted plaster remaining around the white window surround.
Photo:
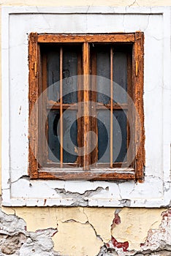
<svg viewBox="0 0 171 256">
<path fill-rule="evenodd" d="M 63 6 L 171 6 L 171 0 L 4 0 L 0 2 L 0 6 L 61 6 L 61 4 Z M 58 227 L 58 233 L 53 237 L 54 249 L 61 252 L 62 255 L 69 256 L 95 256 L 103 242 L 110 240 L 110 225 L 115 212 L 115 208 L 81 207 L 3 207 L 2 210 L 7 214 L 16 214 L 25 219 L 28 231 Z M 121 224 L 113 229 L 112 235 L 118 241 L 129 241 L 129 249 L 139 249 L 140 243 L 145 241 L 148 230 L 159 227 L 162 211 L 164 211 L 162 208 L 123 208 L 119 214 Z"/>
</svg>

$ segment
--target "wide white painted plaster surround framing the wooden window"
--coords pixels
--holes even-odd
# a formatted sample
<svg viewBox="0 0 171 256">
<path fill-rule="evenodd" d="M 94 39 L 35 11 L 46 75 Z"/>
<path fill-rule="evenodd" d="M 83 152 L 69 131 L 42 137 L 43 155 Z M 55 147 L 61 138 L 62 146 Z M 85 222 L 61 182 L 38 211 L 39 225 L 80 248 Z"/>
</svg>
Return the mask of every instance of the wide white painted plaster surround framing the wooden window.
<svg viewBox="0 0 171 256">
<path fill-rule="evenodd" d="M 37 15 L 37 23 L 31 27 L 31 18 Z M 134 181 L 30 181 L 27 173 L 28 167 L 28 40 L 26 33 L 22 34 L 20 28 L 17 29 L 18 34 L 16 45 L 14 34 L 12 32 L 13 19 L 16 17 L 23 18 L 22 23 L 18 26 L 24 27 L 23 31 L 28 34 L 35 32 L 58 32 L 53 29 L 55 21 L 50 15 L 58 15 L 59 20 L 65 20 L 68 15 L 80 15 L 83 18 L 85 26 L 78 24 L 76 33 L 88 33 L 88 21 L 86 18 L 93 18 L 94 15 L 120 15 L 118 20 L 118 28 L 123 23 L 123 31 L 129 32 L 129 28 L 124 28 L 126 15 L 143 15 L 146 17 L 146 28 L 144 27 L 145 37 L 153 38 L 153 33 L 148 34 L 148 26 L 153 15 L 160 15 L 162 35 L 156 38 L 162 45 L 162 51 L 159 52 L 161 59 L 161 76 L 162 83 L 159 93 L 161 93 L 161 101 L 159 101 L 159 120 L 155 124 L 149 122 L 148 97 L 153 89 L 155 93 L 157 76 L 153 77 L 153 86 L 149 91 L 147 81 L 149 78 L 149 70 L 153 71 L 155 59 L 151 59 L 151 66 L 148 61 L 148 47 L 145 45 L 145 181 L 135 184 Z M 41 16 L 41 17 L 40 17 Z M 2 204 L 3 206 L 106 206 L 106 207 L 161 207 L 170 206 L 170 143 L 171 143 L 171 53 L 170 53 L 170 7 L 2 7 Z M 26 17 L 26 18 L 24 18 Z M 102 17 L 102 16 L 101 16 Z M 153 16 L 154 17 L 154 16 Z M 45 20 L 47 26 L 40 26 L 39 20 Z M 134 20 L 136 23 L 137 20 Z M 19 22 L 19 21 L 18 21 Z M 71 22 L 72 23 L 72 22 Z M 75 21 L 70 30 L 75 27 Z M 95 22 L 96 23 L 96 22 Z M 138 22 L 137 22 L 138 23 Z M 136 24 L 132 28 L 136 27 Z M 96 29 L 91 32 L 102 32 Z M 112 26 L 110 26 L 112 27 Z M 115 28 L 115 26 L 113 26 Z M 130 28 L 130 29 L 132 29 Z M 53 29 L 53 30 L 52 30 Z M 137 30 L 137 28 L 135 29 Z M 105 32 L 109 32 L 107 26 Z M 143 31 L 143 30 L 142 30 Z M 59 31 L 61 32 L 61 31 Z M 69 32 L 63 31 L 63 32 Z M 119 31 L 111 31 L 119 32 Z M 134 29 L 132 31 L 134 32 Z M 155 31 L 154 31 L 155 34 Z M 155 36 L 154 36 L 155 37 Z M 153 42 L 153 40 L 151 41 Z M 157 45 L 157 44 L 156 44 Z M 155 45 L 153 45 L 155 47 Z M 23 50 L 23 61 L 18 55 L 18 59 L 14 62 L 12 54 Z M 156 56 L 157 61 L 158 56 Z M 22 64 L 21 64 L 22 63 Z M 12 75 L 15 72 L 15 76 Z M 14 79 L 14 82 L 12 82 Z M 13 86 L 16 88 L 16 94 L 13 94 Z M 147 90 L 147 91 L 146 91 Z M 153 98 L 155 100 L 155 97 Z M 153 105 L 153 100 L 151 105 Z M 18 115 L 16 114 L 18 111 Z M 20 113 L 20 115 L 19 115 Z M 13 115 L 14 114 L 14 115 Z M 12 119 L 13 118 L 13 119 Z M 15 118 L 15 123 L 14 123 Z M 14 125 L 16 124 L 16 126 Z M 21 124 L 21 125 L 20 125 Z M 155 130 L 155 125 L 159 125 L 159 129 Z M 151 135 L 151 139 L 149 138 Z M 153 137 L 155 136 L 155 137 Z M 159 140 L 161 148 L 153 147 L 152 141 Z M 150 143 L 151 140 L 151 143 Z M 14 143 L 14 141 L 16 143 Z M 155 144 L 156 145 L 156 144 Z M 16 146 L 16 147 L 15 147 Z M 160 154 L 158 154 L 160 152 Z M 158 158 L 158 159 L 157 159 Z M 16 159 L 16 161 L 14 161 Z M 154 159 L 154 162 L 151 160 Z"/>
</svg>

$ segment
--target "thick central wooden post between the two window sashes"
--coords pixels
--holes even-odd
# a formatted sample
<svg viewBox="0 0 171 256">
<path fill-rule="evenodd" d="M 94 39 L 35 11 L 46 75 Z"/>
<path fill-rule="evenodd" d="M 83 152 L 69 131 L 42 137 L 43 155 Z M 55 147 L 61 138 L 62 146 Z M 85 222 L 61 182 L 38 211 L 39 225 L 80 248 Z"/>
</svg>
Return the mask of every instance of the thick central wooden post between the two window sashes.
<svg viewBox="0 0 171 256">
<path fill-rule="evenodd" d="M 89 149 L 89 44 L 88 42 L 83 43 L 83 170 L 89 170 L 90 155 L 88 154 Z"/>
</svg>

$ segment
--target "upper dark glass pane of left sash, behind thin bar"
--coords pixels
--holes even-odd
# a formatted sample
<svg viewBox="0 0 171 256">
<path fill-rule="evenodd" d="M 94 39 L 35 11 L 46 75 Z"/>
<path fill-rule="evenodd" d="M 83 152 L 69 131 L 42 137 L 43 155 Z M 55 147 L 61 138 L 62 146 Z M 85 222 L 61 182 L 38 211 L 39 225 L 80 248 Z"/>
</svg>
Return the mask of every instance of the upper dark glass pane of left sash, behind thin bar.
<svg viewBox="0 0 171 256">
<path fill-rule="evenodd" d="M 53 47 L 54 48 L 54 47 Z M 60 47 L 55 50 L 47 50 L 47 86 L 48 99 L 59 101 L 60 97 Z M 79 45 L 66 46 L 63 49 L 63 103 L 72 104 L 77 102 L 77 66 L 78 54 L 81 56 Z"/>
</svg>

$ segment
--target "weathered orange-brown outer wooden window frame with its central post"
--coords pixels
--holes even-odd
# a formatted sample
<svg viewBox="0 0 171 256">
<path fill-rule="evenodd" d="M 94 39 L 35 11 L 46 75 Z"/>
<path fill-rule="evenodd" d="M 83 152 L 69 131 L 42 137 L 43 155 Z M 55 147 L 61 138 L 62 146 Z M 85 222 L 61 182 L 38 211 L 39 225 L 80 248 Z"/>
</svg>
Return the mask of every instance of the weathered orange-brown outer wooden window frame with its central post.
<svg viewBox="0 0 171 256">
<path fill-rule="evenodd" d="M 43 63 L 40 61 L 40 44 L 56 43 L 56 42 L 81 42 L 83 43 L 83 75 L 89 75 L 89 53 L 88 44 L 90 42 L 102 42 L 102 43 L 132 43 L 132 99 L 134 106 L 137 110 L 140 120 L 134 118 L 134 151 L 137 152 L 134 158 L 133 167 L 111 167 L 111 168 L 93 168 L 88 170 L 88 154 L 84 152 L 83 166 L 85 168 L 61 168 L 39 167 L 38 154 L 39 154 L 39 136 L 41 136 L 41 127 L 39 126 L 39 111 L 34 112 L 34 118 L 29 121 L 29 165 L 28 173 L 30 178 L 46 178 L 46 179 L 86 179 L 86 180 L 118 180 L 118 179 L 134 179 L 141 181 L 144 175 L 145 165 L 145 132 L 144 132 L 144 111 L 143 111 L 143 33 L 137 31 L 135 33 L 119 33 L 119 34 L 37 34 L 31 33 L 29 35 L 28 45 L 28 61 L 29 61 L 29 116 L 31 110 L 34 108 L 35 103 L 39 97 L 39 84 L 41 83 L 41 69 L 43 69 Z M 112 54 L 112 53 L 111 53 Z M 61 63 L 60 63 L 61 65 Z M 62 74 L 60 74 L 60 80 L 62 80 Z M 88 106 L 86 102 L 89 100 L 88 95 L 88 76 L 83 76 L 84 93 L 83 100 L 84 105 L 84 120 L 88 116 Z M 43 86 L 43 85 L 42 85 Z M 61 86 L 61 83 L 60 83 Z M 129 92 L 128 92 L 129 93 Z M 113 102 L 111 102 L 113 104 Z M 61 111 L 61 108 L 60 108 Z M 112 111 L 111 111 L 112 112 Z M 43 113 L 42 113 L 43 114 Z M 62 124 L 61 124 L 62 125 Z M 141 138 L 139 132 L 141 132 Z M 84 126 L 84 132 L 88 132 L 88 126 Z M 87 133 L 88 134 L 88 133 Z M 84 137 L 84 144 L 88 138 Z M 61 142 L 62 146 L 62 142 Z M 34 148 L 34 153 L 32 151 Z M 112 163 L 110 162 L 110 165 Z"/>
</svg>

